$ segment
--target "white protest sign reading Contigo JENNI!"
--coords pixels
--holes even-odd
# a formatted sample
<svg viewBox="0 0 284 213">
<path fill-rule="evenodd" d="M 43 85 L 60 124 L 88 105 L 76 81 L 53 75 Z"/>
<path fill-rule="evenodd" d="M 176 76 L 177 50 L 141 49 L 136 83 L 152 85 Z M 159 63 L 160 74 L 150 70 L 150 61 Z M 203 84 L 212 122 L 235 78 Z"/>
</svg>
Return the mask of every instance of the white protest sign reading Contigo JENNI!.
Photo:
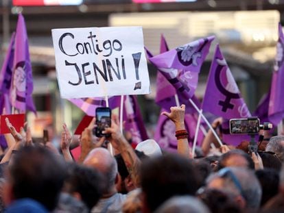
<svg viewBox="0 0 284 213">
<path fill-rule="evenodd" d="M 142 27 L 52 29 L 64 99 L 150 93 Z"/>
</svg>

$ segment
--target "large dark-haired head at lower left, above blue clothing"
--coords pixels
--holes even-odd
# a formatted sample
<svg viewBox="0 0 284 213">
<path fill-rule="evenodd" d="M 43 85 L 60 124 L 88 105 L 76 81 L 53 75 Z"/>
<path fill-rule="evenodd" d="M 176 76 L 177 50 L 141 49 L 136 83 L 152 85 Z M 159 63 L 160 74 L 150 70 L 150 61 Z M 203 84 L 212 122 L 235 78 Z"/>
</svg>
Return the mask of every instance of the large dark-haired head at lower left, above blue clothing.
<svg viewBox="0 0 284 213">
<path fill-rule="evenodd" d="M 5 183 L 5 202 L 30 198 L 47 208 L 56 208 L 66 177 L 66 165 L 44 147 L 23 147 L 13 154 Z"/>
</svg>

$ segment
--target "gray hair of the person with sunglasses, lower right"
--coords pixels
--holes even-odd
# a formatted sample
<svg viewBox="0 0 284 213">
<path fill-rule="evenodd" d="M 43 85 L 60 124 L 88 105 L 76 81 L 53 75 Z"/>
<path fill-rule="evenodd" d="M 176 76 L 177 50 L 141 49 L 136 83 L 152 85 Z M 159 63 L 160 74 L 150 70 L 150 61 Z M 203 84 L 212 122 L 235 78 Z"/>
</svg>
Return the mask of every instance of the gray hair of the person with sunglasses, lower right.
<svg viewBox="0 0 284 213">
<path fill-rule="evenodd" d="M 239 181 L 239 184 L 241 185 L 242 196 L 246 201 L 246 208 L 251 208 L 251 209 L 259 208 L 259 205 L 261 203 L 262 190 L 261 190 L 261 185 L 259 184 L 259 180 L 255 176 L 255 173 L 246 168 L 238 168 L 238 167 L 226 167 L 226 168 L 230 169 L 230 171 L 235 175 L 235 177 Z M 235 196 L 241 195 L 241 192 L 235 185 L 230 175 L 226 177 L 220 177 L 219 173 L 214 173 L 213 175 L 209 176 L 209 178 L 207 179 L 207 184 L 213 181 L 213 179 L 222 178 L 224 180 L 222 181 L 224 190 L 232 193 Z"/>
</svg>

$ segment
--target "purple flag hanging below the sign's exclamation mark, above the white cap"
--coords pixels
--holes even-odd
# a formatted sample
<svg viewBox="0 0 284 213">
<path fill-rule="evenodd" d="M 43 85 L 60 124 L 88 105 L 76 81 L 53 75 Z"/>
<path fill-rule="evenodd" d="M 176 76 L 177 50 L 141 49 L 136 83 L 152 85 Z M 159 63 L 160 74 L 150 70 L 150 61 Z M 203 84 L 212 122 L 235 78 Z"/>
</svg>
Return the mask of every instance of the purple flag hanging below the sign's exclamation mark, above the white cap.
<svg viewBox="0 0 284 213">
<path fill-rule="evenodd" d="M 123 106 L 123 121 L 125 121 L 124 129 L 130 132 L 132 145 L 135 147 L 139 142 L 148 139 L 137 97 L 134 95 L 127 95 Z"/>
</svg>

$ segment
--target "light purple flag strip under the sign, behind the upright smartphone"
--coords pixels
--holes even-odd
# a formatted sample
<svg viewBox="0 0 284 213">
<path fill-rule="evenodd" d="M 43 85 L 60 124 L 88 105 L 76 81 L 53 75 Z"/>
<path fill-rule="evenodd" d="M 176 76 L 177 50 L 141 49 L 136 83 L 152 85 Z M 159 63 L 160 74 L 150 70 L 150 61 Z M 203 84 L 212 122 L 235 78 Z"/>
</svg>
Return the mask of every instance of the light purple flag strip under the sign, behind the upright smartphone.
<svg viewBox="0 0 284 213">
<path fill-rule="evenodd" d="M 84 98 L 84 99 L 68 99 L 74 105 L 78 106 L 88 116 L 95 116 L 95 109 L 98 107 L 106 107 L 106 100 L 101 97 Z M 108 97 L 108 106 L 110 109 L 115 109 L 120 106 L 121 96 Z"/>
</svg>

